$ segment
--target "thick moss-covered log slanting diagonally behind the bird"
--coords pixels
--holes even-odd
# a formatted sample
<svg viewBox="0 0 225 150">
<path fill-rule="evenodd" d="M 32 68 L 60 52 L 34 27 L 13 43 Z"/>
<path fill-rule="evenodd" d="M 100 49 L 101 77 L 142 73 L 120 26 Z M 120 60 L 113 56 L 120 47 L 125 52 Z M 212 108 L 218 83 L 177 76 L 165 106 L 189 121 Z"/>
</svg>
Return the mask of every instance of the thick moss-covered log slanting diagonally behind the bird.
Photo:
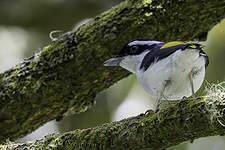
<svg viewBox="0 0 225 150">
<path fill-rule="evenodd" d="M 0 74 L 0 142 L 22 137 L 129 75 L 102 63 L 127 41 L 205 39 L 225 15 L 221 0 L 127 0 Z"/>
</svg>

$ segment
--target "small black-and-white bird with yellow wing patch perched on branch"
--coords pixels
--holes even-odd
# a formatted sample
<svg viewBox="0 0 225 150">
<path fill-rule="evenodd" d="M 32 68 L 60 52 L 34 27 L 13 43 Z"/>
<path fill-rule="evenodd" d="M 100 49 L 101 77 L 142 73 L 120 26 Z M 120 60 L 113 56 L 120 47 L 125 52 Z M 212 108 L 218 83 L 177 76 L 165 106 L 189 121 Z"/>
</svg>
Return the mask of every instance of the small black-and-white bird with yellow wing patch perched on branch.
<svg viewBox="0 0 225 150">
<path fill-rule="evenodd" d="M 209 58 L 198 43 L 136 39 L 104 66 L 121 66 L 136 74 L 143 89 L 160 101 L 193 96 L 201 87 Z"/>
</svg>

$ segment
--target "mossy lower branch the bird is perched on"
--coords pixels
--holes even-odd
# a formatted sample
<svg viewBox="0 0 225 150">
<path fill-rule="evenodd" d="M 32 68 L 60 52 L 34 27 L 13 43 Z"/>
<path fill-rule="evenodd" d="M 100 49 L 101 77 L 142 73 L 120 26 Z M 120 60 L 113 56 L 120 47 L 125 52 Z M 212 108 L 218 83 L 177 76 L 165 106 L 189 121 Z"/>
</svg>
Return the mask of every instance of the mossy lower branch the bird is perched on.
<svg viewBox="0 0 225 150">
<path fill-rule="evenodd" d="M 220 103 L 215 110 L 224 111 L 224 104 Z M 8 144 L 5 147 L 12 146 L 18 150 L 25 147 L 63 150 L 163 149 L 200 137 L 224 135 L 224 126 L 216 118 L 211 120 L 211 117 L 205 100 L 182 100 L 156 114 L 151 112 L 95 128 L 50 135 L 35 143 Z M 224 114 L 221 117 L 224 118 Z"/>
</svg>

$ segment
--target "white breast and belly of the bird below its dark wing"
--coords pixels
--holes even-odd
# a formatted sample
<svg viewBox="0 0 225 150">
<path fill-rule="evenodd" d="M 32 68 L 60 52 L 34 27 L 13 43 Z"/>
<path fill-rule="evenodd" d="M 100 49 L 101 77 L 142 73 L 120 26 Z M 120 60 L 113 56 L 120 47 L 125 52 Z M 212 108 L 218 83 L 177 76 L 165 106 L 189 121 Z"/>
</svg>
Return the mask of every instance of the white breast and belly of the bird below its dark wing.
<svg viewBox="0 0 225 150">
<path fill-rule="evenodd" d="M 146 71 L 138 71 L 141 86 L 150 95 L 163 99 L 177 100 L 192 95 L 189 73 L 193 72 L 194 92 L 203 83 L 205 60 L 196 49 L 178 50 L 167 58 L 153 63 Z M 163 95 L 161 92 L 167 83 Z"/>
</svg>

